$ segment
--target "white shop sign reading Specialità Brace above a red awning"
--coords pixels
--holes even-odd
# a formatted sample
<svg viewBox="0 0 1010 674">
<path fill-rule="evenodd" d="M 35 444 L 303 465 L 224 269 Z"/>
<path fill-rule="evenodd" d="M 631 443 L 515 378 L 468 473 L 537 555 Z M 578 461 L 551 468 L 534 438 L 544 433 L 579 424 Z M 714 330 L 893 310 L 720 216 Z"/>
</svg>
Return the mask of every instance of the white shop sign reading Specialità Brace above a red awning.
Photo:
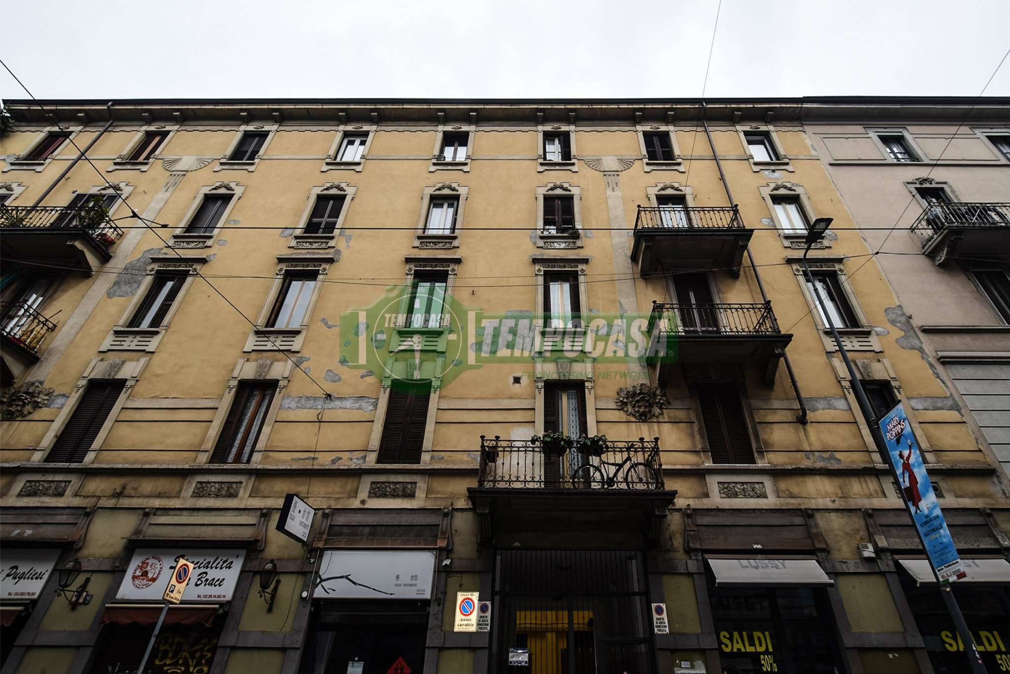
<svg viewBox="0 0 1010 674">
<path fill-rule="evenodd" d="M 162 583 L 176 571 L 176 558 L 183 556 L 193 564 L 187 581 L 187 601 L 229 601 L 245 561 L 242 550 L 174 550 L 139 548 L 126 567 L 126 576 L 116 599 L 159 601 Z"/>
</svg>

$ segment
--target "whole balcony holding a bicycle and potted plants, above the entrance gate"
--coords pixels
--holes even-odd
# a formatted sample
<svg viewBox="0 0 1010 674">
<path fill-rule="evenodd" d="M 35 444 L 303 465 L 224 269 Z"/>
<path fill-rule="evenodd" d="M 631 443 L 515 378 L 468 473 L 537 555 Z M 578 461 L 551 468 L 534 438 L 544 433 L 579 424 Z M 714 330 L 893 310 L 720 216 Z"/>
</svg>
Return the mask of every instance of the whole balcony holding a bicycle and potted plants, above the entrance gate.
<svg viewBox="0 0 1010 674">
<path fill-rule="evenodd" d="M 606 441 L 563 451 L 534 440 L 481 436 L 471 487 L 481 539 L 494 545 L 641 546 L 659 537 L 677 492 L 663 479 L 660 440 Z"/>
</svg>

